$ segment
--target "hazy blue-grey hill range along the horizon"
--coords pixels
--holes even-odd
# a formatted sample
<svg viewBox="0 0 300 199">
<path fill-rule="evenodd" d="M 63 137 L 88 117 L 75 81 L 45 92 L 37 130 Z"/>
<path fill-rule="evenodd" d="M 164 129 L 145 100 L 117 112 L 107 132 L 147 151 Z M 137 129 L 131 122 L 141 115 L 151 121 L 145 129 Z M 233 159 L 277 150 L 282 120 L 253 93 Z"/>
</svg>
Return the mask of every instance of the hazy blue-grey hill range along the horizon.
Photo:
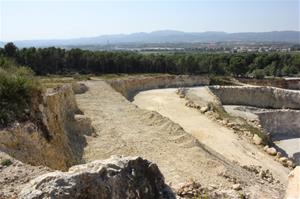
<svg viewBox="0 0 300 199">
<path fill-rule="evenodd" d="M 174 30 L 140 32 L 132 34 L 102 35 L 97 37 L 13 41 L 19 47 L 28 46 L 69 46 L 106 45 L 122 43 L 196 43 L 196 42 L 288 42 L 300 43 L 300 31 L 272 32 L 181 32 Z M 0 42 L 0 45 L 3 43 Z"/>
</svg>

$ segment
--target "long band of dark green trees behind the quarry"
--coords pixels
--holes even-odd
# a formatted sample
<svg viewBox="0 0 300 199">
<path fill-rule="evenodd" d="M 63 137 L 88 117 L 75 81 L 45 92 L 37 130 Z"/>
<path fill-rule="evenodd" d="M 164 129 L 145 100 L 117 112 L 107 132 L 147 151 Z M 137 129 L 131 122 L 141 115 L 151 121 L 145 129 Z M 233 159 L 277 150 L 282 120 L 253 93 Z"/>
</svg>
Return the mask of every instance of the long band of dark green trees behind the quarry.
<svg viewBox="0 0 300 199">
<path fill-rule="evenodd" d="M 13 58 L 38 75 L 171 73 L 233 76 L 284 76 L 300 73 L 299 53 L 142 54 L 62 48 L 22 48 L 7 43 L 0 57 Z"/>
</svg>

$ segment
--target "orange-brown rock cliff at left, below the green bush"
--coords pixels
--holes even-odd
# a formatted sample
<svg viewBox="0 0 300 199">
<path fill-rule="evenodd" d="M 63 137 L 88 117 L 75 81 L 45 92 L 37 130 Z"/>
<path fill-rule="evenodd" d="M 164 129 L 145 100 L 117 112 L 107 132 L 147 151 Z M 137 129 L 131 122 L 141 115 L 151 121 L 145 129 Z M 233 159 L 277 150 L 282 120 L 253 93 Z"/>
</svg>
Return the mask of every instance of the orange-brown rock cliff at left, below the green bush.
<svg viewBox="0 0 300 199">
<path fill-rule="evenodd" d="M 71 85 L 48 90 L 34 100 L 32 121 L 15 123 L 0 130 L 0 151 L 32 165 L 67 169 L 81 162 L 85 145 L 81 128 L 75 119 L 80 113 Z M 87 132 L 85 132 L 87 131 Z"/>
</svg>

